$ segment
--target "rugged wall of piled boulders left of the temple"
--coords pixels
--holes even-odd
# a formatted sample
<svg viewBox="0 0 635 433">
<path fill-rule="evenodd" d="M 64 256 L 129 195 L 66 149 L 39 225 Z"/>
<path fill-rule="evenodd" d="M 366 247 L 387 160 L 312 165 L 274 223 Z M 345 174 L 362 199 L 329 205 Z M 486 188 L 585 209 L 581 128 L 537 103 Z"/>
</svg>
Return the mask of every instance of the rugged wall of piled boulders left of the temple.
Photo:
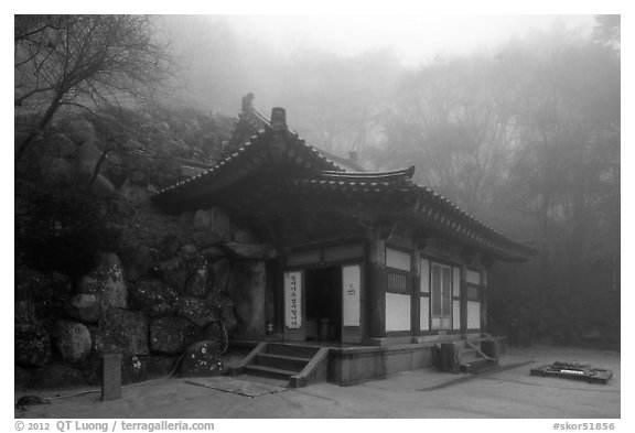
<svg viewBox="0 0 635 433">
<path fill-rule="evenodd" d="M 108 353 L 123 354 L 123 382 L 175 369 L 181 375 L 215 375 L 223 368 L 228 337 L 265 333 L 265 261 L 276 257 L 273 248 L 219 208 L 169 216 L 150 203 L 158 187 L 195 174 L 177 164 L 164 170 L 166 162 L 159 156 L 209 162 L 214 149 L 229 138 L 226 123 L 214 129 L 214 119 L 195 119 L 186 126 L 192 142 L 185 143 L 180 139 L 183 125 L 159 120 L 144 115 L 139 122 L 144 122 L 140 129 L 146 133 L 118 138 L 122 145 L 112 150 L 103 125 L 76 119 L 44 137 L 34 148 L 40 152 L 17 167 L 15 388 L 96 385 L 100 357 Z M 197 144 L 194 132 L 201 125 L 209 131 L 198 133 L 212 144 Z M 165 138 L 159 133 L 171 130 L 174 134 L 165 139 L 170 144 L 148 140 L 158 141 Z M 29 166 L 37 169 L 37 178 L 29 177 Z M 20 190 L 25 184 L 31 190 Z M 28 215 L 32 205 L 26 193 L 45 187 L 62 195 L 78 184 L 97 209 L 92 217 L 118 240 L 111 249 L 97 251 L 95 266 L 82 273 L 42 270 L 22 240 L 34 227 L 18 216 Z M 45 216 L 51 224 L 44 235 L 53 241 L 55 230 L 64 234 L 73 223 L 57 220 L 53 213 Z M 88 247 L 93 241 L 80 240 Z M 35 257 L 46 258 L 46 250 L 37 252 Z M 57 259 L 64 264 L 72 260 Z"/>
</svg>

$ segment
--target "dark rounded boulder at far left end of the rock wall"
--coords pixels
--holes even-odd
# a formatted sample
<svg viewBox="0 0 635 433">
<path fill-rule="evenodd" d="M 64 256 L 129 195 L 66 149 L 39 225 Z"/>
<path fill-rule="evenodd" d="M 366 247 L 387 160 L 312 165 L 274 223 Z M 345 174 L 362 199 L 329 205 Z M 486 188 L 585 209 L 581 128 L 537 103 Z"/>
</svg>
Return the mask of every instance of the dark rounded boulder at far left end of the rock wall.
<svg viewBox="0 0 635 433">
<path fill-rule="evenodd" d="M 23 367 L 40 367 L 51 360 L 51 338 L 41 326 L 14 325 L 15 364 Z"/>
</svg>

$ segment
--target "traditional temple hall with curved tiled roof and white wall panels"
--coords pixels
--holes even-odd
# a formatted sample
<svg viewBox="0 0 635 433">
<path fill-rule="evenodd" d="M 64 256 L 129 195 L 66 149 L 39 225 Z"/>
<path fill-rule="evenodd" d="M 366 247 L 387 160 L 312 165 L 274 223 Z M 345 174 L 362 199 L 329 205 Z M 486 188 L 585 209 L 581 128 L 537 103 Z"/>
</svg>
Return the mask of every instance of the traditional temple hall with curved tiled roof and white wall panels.
<svg viewBox="0 0 635 433">
<path fill-rule="evenodd" d="M 415 184 L 413 166 L 365 172 L 306 144 L 282 108 L 267 119 L 245 100 L 233 143 L 243 144 L 153 203 L 172 214 L 222 208 L 265 237 L 275 253 L 262 255 L 262 290 L 234 294 L 249 312 L 239 335 L 348 346 L 331 349 L 335 382 L 422 368 L 434 344 L 482 337 L 487 268 L 535 253 Z M 294 361 L 280 356 L 294 358 L 260 359 Z M 383 367 L 352 372 L 377 359 Z"/>
</svg>

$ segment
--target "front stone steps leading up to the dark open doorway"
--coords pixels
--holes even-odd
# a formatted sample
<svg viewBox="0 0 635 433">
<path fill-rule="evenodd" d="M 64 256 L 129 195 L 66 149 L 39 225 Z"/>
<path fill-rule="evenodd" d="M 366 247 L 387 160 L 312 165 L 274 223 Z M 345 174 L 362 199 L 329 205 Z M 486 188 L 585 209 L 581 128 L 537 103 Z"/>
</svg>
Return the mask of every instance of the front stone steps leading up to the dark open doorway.
<svg viewBox="0 0 635 433">
<path fill-rule="evenodd" d="M 288 380 L 290 388 L 325 381 L 329 375 L 329 348 L 286 343 L 259 343 L 230 375 L 252 375 Z"/>
</svg>

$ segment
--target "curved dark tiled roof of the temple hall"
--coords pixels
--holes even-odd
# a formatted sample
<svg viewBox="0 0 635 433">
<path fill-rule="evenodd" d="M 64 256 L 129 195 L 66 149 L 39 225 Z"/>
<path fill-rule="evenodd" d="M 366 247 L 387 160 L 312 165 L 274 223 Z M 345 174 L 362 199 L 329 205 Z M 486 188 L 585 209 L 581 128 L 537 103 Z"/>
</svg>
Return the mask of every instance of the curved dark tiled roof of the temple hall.
<svg viewBox="0 0 635 433">
<path fill-rule="evenodd" d="M 535 255 L 526 243 L 516 241 L 460 209 L 432 190 L 412 183 L 415 166 L 386 172 L 346 172 L 335 162 L 306 144 L 288 128 L 275 128 L 256 110 L 246 121 L 261 127 L 234 154 L 212 169 L 161 190 L 153 203 L 169 212 L 192 210 L 201 201 L 226 199 L 228 187 L 260 171 L 275 173 L 271 191 L 295 195 L 315 203 L 336 202 L 343 208 L 376 208 L 399 213 L 411 224 L 444 237 L 484 249 L 497 257 L 524 259 Z M 270 193 L 271 194 L 271 193 Z"/>
</svg>

